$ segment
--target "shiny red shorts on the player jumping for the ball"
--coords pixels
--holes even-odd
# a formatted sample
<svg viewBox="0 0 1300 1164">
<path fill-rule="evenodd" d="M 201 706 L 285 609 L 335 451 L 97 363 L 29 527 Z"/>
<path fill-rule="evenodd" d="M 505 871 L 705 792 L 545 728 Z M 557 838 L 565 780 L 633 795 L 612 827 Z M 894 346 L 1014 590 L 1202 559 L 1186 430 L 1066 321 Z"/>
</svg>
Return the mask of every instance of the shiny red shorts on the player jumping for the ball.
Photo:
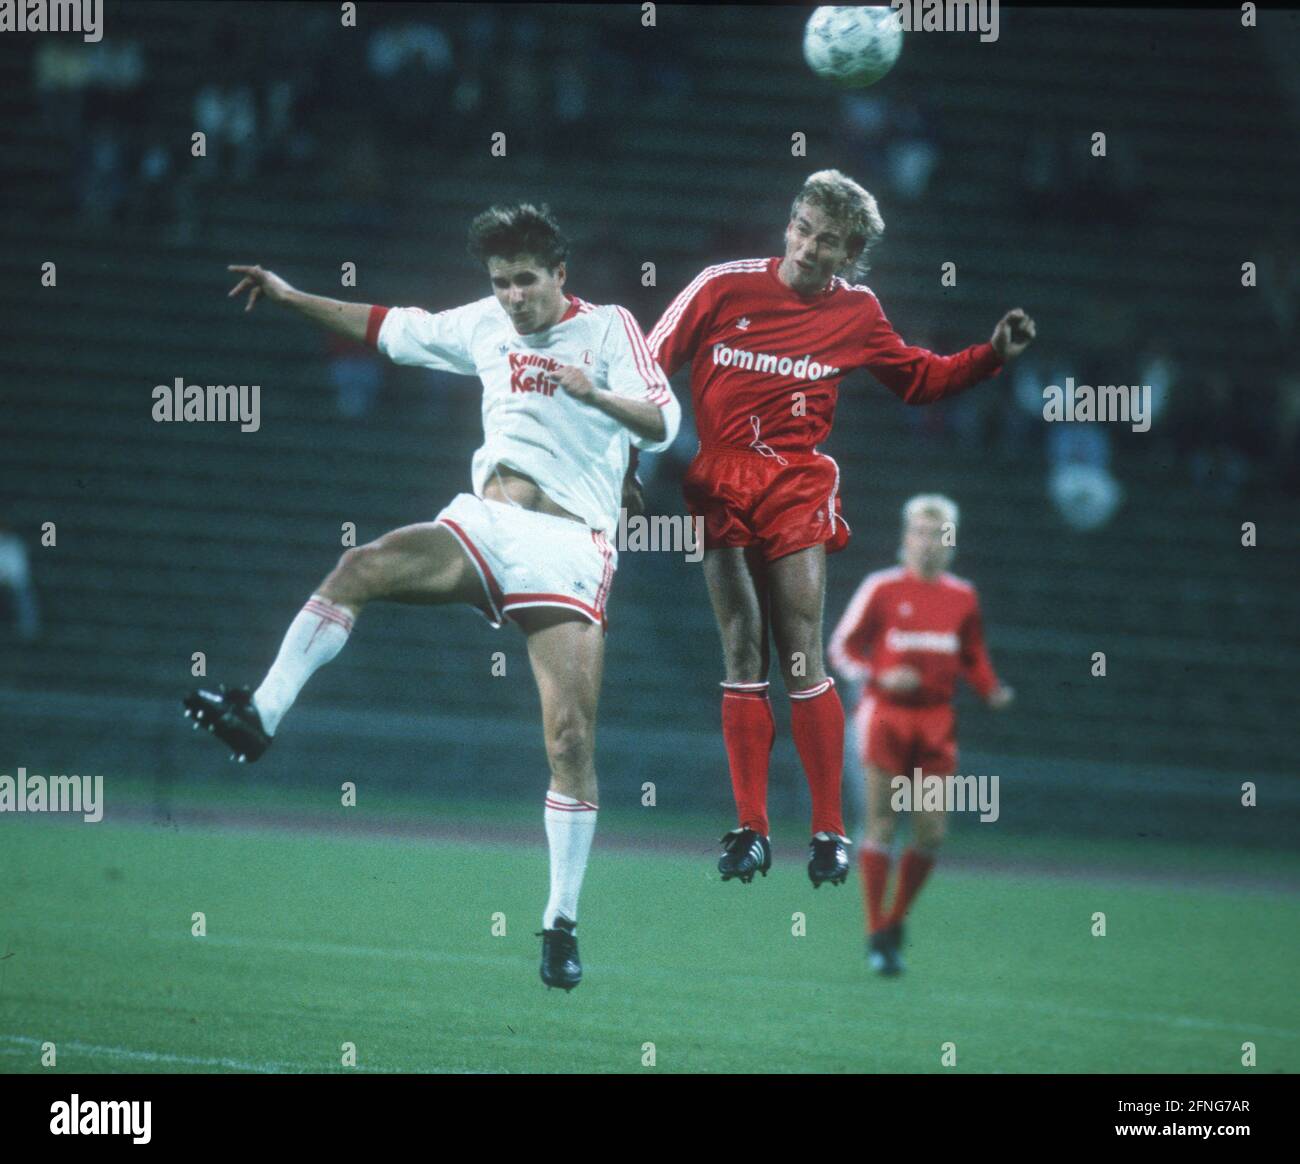
<svg viewBox="0 0 1300 1164">
<path fill-rule="evenodd" d="M 762 546 L 772 562 L 822 542 L 828 554 L 849 544 L 840 467 L 824 453 L 701 449 L 682 494 L 690 515 L 705 520 L 706 550 Z"/>
</svg>

